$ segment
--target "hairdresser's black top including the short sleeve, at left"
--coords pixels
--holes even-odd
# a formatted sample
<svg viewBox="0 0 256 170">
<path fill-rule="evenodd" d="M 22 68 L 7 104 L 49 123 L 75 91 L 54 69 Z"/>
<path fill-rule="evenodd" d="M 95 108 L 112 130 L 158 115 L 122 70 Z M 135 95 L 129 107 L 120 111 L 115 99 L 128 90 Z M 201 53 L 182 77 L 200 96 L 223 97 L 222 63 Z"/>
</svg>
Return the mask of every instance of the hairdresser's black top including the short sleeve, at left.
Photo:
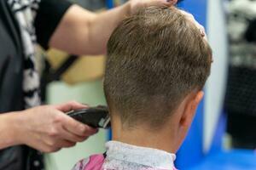
<svg viewBox="0 0 256 170">
<path fill-rule="evenodd" d="M 35 31 L 35 40 L 44 48 L 48 48 L 49 39 L 56 27 L 72 4 L 66 0 L 32 0 L 30 8 L 35 12 L 32 23 Z M 0 0 L 0 113 L 20 111 L 25 108 L 24 74 L 26 53 L 24 37 L 20 30 L 20 22 L 15 13 L 28 8 L 12 8 L 20 1 Z M 22 6 L 23 5 L 23 6 Z M 33 8 L 37 7 L 37 8 Z M 11 125 L 10 125 L 11 126 Z M 35 162 L 35 157 L 40 158 L 38 151 L 27 146 L 9 147 L 0 150 L 0 169 L 4 170 L 39 170 L 44 166 Z M 42 156 L 41 156 L 42 157 Z"/>
</svg>

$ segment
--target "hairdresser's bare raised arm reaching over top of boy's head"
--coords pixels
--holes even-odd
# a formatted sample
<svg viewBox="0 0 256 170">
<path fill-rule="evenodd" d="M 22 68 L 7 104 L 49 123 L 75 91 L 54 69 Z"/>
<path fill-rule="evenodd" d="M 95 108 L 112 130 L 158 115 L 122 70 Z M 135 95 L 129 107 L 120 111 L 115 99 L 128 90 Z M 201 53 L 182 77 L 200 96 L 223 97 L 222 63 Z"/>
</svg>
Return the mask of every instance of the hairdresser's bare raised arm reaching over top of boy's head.
<svg viewBox="0 0 256 170">
<path fill-rule="evenodd" d="M 125 16 L 144 6 L 171 6 L 174 3 L 177 3 L 177 0 L 131 0 L 100 14 L 73 5 L 68 8 L 57 26 L 49 40 L 49 46 L 70 54 L 103 54 L 106 52 L 108 38 L 113 29 Z"/>
</svg>

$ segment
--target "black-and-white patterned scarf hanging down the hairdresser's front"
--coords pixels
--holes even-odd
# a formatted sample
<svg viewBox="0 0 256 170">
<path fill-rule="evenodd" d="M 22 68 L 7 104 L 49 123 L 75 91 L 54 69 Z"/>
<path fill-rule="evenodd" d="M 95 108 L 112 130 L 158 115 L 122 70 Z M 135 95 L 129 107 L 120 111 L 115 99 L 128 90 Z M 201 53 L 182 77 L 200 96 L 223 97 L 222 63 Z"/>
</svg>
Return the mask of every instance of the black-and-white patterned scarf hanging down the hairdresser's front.
<svg viewBox="0 0 256 170">
<path fill-rule="evenodd" d="M 39 75 L 35 65 L 36 36 L 33 20 L 40 0 L 8 0 L 20 26 L 20 36 L 24 50 L 23 93 L 25 108 L 40 105 Z M 44 169 L 43 155 L 37 150 L 28 149 L 29 170 Z"/>
</svg>

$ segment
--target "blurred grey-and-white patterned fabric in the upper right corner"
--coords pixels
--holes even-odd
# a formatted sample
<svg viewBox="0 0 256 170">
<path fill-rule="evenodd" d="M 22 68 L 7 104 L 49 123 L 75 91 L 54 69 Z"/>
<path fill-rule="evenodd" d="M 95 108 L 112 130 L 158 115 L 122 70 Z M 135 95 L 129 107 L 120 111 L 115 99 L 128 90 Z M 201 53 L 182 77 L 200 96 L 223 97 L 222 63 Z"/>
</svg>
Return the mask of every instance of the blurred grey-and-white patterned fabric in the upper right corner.
<svg viewBox="0 0 256 170">
<path fill-rule="evenodd" d="M 230 65 L 256 69 L 255 43 L 245 39 L 250 20 L 256 19 L 256 1 L 231 0 L 227 5 L 227 14 Z"/>
</svg>

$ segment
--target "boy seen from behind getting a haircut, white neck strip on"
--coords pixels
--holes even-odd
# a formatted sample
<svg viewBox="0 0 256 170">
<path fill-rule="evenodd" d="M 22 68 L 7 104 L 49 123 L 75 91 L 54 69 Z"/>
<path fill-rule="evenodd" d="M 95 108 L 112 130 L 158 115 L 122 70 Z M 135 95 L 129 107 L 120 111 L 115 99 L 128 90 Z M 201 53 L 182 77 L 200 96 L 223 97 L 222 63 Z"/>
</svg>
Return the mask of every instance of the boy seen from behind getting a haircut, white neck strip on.
<svg viewBox="0 0 256 170">
<path fill-rule="evenodd" d="M 108 41 L 104 91 L 113 140 L 79 170 L 175 169 L 210 74 L 212 50 L 177 8 L 145 8 Z"/>
</svg>

